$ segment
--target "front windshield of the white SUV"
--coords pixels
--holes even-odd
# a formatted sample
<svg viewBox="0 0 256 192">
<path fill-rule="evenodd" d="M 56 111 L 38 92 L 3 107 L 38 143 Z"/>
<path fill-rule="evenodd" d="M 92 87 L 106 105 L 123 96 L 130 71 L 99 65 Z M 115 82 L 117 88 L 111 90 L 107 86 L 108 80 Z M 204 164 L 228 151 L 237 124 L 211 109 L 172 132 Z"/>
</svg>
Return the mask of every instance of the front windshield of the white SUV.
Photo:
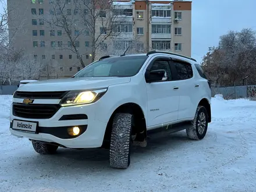
<svg viewBox="0 0 256 192">
<path fill-rule="evenodd" d="M 88 65 L 74 78 L 77 77 L 131 77 L 138 73 L 143 66 L 146 55 L 113 57 L 103 59 Z"/>
</svg>

